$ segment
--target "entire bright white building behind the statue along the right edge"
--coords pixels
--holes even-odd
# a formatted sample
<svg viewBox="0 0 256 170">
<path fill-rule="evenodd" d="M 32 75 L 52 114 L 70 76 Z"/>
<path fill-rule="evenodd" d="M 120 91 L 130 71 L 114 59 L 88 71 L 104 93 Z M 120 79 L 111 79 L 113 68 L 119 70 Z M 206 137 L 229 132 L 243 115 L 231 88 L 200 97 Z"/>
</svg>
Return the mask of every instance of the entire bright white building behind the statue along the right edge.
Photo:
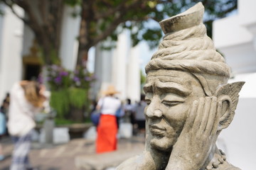
<svg viewBox="0 0 256 170">
<path fill-rule="evenodd" d="M 215 47 L 225 55 L 233 81 L 245 81 L 233 123 L 220 133 L 228 160 L 240 169 L 256 167 L 256 1 L 238 1 L 238 14 L 215 21 Z"/>
</svg>

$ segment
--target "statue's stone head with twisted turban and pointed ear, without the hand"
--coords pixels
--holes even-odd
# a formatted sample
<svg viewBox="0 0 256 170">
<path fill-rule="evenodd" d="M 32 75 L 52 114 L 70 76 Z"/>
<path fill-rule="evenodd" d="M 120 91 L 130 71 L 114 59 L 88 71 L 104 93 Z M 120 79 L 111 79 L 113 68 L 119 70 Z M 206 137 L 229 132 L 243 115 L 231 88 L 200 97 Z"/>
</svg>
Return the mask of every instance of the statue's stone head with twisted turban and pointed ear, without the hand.
<svg viewBox="0 0 256 170">
<path fill-rule="evenodd" d="M 198 3 L 160 22 L 165 35 L 146 65 L 144 86 L 147 142 L 155 149 L 175 145 L 193 101 L 201 97 L 216 96 L 222 102 L 217 133 L 233 120 L 244 83 L 227 84 L 230 68 L 206 35 L 203 12 Z"/>
</svg>

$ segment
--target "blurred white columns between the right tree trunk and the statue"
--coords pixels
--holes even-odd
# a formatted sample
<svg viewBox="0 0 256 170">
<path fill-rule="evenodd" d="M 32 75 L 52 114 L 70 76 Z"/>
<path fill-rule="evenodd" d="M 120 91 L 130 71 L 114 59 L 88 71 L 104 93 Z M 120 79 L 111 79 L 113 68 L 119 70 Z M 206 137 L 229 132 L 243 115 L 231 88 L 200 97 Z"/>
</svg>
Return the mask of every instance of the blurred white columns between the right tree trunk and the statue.
<svg viewBox="0 0 256 170">
<path fill-rule="evenodd" d="M 94 94 L 101 96 L 110 84 L 120 93 L 117 94 L 123 101 L 130 98 L 139 101 L 140 74 L 139 74 L 139 46 L 131 47 L 128 31 L 119 35 L 117 46 L 113 50 L 101 50 L 101 44 L 95 50 L 95 76 L 97 84 Z"/>
</svg>

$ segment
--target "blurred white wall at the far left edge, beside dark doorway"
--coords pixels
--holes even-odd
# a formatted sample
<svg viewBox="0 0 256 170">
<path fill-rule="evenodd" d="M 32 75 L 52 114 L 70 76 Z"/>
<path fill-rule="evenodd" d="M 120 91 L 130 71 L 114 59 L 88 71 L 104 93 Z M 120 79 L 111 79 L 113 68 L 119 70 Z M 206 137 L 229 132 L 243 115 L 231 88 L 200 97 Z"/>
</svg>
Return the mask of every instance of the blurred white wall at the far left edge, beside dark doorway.
<svg viewBox="0 0 256 170">
<path fill-rule="evenodd" d="M 15 11 L 23 16 L 23 10 L 15 6 Z M 4 8 L 1 22 L 0 47 L 0 99 L 3 100 L 11 86 L 21 80 L 23 21 L 17 18 L 9 8 Z M 0 102 L 1 102 L 0 101 Z"/>
</svg>

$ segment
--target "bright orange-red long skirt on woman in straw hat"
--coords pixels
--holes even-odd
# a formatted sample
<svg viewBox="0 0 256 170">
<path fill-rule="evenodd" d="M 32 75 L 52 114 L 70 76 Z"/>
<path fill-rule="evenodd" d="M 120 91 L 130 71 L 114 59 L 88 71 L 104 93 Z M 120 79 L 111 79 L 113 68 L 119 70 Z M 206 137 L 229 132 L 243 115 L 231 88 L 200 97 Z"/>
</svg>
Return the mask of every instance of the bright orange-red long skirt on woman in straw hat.
<svg viewBox="0 0 256 170">
<path fill-rule="evenodd" d="M 117 118 L 114 115 L 100 115 L 97 126 L 96 152 L 111 152 L 117 149 Z"/>
</svg>

